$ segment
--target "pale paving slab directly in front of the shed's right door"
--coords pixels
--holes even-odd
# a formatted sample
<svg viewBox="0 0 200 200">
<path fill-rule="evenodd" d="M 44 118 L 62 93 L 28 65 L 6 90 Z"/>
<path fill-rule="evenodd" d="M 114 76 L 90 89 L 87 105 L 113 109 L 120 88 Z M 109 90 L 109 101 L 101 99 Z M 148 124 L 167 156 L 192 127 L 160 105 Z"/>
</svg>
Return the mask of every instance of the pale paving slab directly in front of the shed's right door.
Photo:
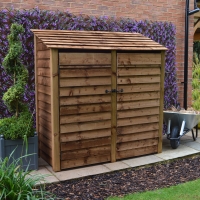
<svg viewBox="0 0 200 200">
<path fill-rule="evenodd" d="M 155 155 L 149 155 L 149 156 L 141 156 L 138 158 L 123 160 L 122 162 L 131 167 L 138 167 L 138 166 L 148 165 L 148 164 L 157 163 L 161 161 L 163 161 L 162 158 L 157 157 Z"/>
</svg>

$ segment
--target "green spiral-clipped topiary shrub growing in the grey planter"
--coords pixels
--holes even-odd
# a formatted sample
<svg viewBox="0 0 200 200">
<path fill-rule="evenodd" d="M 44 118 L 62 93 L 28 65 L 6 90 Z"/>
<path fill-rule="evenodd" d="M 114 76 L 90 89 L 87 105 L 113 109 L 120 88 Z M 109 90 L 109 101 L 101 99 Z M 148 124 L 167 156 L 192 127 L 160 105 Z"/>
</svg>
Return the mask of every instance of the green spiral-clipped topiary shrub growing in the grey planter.
<svg viewBox="0 0 200 200">
<path fill-rule="evenodd" d="M 11 33 L 8 35 L 8 54 L 2 63 L 5 71 L 14 80 L 14 85 L 4 93 L 2 98 L 9 111 L 15 112 L 15 116 L 0 119 L 0 133 L 5 139 L 25 139 L 34 135 L 32 114 L 22 102 L 28 79 L 28 70 L 20 60 L 22 44 L 19 36 L 23 31 L 21 25 L 12 24 Z"/>
</svg>

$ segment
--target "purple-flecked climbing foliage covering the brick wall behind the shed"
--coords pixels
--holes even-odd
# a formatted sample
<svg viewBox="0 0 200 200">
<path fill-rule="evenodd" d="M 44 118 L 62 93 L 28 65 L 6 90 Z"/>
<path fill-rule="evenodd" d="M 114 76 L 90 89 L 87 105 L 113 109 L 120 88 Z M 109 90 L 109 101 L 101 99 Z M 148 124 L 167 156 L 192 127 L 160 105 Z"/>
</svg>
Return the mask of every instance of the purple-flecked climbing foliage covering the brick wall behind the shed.
<svg viewBox="0 0 200 200">
<path fill-rule="evenodd" d="M 29 103 L 34 112 L 34 41 L 30 29 L 88 30 L 138 32 L 168 48 L 165 65 L 164 107 L 176 106 L 178 100 L 175 67 L 175 26 L 169 22 L 135 21 L 133 19 L 116 19 L 107 16 L 94 17 L 73 15 L 69 12 L 31 10 L 0 11 L 0 118 L 10 115 L 2 99 L 3 93 L 12 85 L 11 78 L 2 67 L 2 61 L 8 51 L 7 35 L 12 23 L 21 24 L 25 32 L 21 35 L 23 64 L 29 71 L 24 101 Z"/>
</svg>

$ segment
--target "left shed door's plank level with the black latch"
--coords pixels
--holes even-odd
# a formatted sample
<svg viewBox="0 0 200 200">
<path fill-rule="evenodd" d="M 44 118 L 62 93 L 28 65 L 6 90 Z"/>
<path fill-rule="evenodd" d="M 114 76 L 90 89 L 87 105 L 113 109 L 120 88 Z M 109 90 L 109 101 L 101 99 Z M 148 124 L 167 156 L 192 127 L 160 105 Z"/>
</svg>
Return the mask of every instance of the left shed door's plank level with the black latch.
<svg viewBox="0 0 200 200">
<path fill-rule="evenodd" d="M 110 86 L 90 86 L 90 87 L 85 86 L 85 87 L 60 88 L 60 96 L 106 94 L 105 92 L 106 90 L 110 90 Z"/>
</svg>

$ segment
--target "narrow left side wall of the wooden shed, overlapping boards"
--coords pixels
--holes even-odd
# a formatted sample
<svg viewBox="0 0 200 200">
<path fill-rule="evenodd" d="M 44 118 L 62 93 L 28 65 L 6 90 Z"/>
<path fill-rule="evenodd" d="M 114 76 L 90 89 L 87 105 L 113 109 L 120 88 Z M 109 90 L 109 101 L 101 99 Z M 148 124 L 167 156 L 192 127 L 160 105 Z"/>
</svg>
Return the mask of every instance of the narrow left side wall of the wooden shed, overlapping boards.
<svg viewBox="0 0 200 200">
<path fill-rule="evenodd" d="M 40 156 L 52 165 L 50 51 L 36 39 L 37 118 Z"/>
</svg>

